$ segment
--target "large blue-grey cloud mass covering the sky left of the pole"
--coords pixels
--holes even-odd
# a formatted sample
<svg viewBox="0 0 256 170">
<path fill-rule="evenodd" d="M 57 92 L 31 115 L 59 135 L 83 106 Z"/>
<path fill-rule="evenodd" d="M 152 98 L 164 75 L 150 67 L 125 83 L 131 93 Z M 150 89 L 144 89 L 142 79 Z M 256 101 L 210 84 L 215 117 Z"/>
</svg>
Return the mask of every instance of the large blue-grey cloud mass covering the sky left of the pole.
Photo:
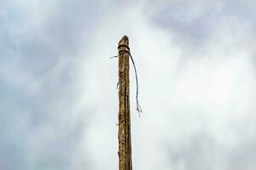
<svg viewBox="0 0 256 170">
<path fill-rule="evenodd" d="M 77 169 L 90 166 L 90 158 L 79 154 L 88 111 L 76 103 L 84 95 L 79 62 L 90 57 L 79 54 L 86 48 L 84 35 L 90 37 L 96 26 L 96 3 L 54 3 L 60 4 L 39 26 L 26 28 L 29 18 L 23 16 L 30 11 L 15 3 L 7 5 L 13 15 L 0 14 L 1 169 L 72 169 L 79 159 Z"/>
</svg>

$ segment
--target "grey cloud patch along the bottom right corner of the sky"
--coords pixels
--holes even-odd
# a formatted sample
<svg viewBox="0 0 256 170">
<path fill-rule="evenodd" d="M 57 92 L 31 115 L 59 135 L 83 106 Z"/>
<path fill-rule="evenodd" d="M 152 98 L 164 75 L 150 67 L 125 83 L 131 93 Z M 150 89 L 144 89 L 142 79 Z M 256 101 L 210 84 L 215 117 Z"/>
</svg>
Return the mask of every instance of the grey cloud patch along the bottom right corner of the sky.
<svg viewBox="0 0 256 170">
<path fill-rule="evenodd" d="M 248 130 L 248 126 L 244 124 L 239 131 L 247 133 Z M 209 134 L 207 131 L 196 132 L 185 137 L 179 144 L 167 144 L 166 150 L 172 162 L 171 167 L 177 170 L 217 168 L 253 170 L 256 156 L 255 135 L 247 138 L 246 135 L 239 133 L 235 138 L 235 145 L 232 146 L 218 142 Z"/>
</svg>

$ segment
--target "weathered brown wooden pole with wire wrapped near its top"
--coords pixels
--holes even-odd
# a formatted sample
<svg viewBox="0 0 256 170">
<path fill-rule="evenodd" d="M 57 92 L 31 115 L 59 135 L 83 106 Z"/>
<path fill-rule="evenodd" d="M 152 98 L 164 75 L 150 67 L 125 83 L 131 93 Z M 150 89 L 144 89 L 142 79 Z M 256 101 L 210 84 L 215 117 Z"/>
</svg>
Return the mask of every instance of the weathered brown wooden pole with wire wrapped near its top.
<svg viewBox="0 0 256 170">
<path fill-rule="evenodd" d="M 129 81 L 129 39 L 119 41 L 119 170 L 132 170 Z"/>
</svg>

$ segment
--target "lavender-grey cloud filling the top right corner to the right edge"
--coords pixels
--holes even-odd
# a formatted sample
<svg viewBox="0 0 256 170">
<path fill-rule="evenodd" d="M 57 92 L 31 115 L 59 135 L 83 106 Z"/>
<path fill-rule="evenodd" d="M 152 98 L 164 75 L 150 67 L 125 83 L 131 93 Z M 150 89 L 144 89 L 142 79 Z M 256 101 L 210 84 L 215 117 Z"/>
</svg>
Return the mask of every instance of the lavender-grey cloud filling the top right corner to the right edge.
<svg viewBox="0 0 256 170">
<path fill-rule="evenodd" d="M 222 24 L 228 24 L 232 18 L 238 21 L 230 22 L 230 25 L 234 24 L 230 29 L 237 24 L 246 26 L 247 22 L 255 25 L 253 7 L 247 1 L 153 2 L 155 10 L 151 12 L 152 23 L 171 32 L 176 41 L 187 48 L 204 48 L 212 36 L 224 29 Z"/>
</svg>

